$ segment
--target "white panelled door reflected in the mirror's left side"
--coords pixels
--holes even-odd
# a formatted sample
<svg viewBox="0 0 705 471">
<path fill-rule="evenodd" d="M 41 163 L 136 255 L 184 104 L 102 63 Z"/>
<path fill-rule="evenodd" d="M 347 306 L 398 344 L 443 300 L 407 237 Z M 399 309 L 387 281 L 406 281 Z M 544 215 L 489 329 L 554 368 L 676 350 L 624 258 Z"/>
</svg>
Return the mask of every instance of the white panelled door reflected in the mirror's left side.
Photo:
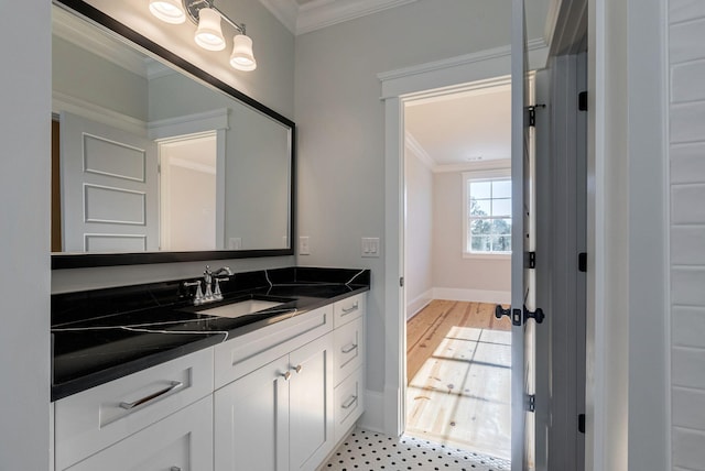
<svg viewBox="0 0 705 471">
<path fill-rule="evenodd" d="M 64 252 L 158 250 L 156 144 L 68 112 L 59 141 Z"/>
</svg>

